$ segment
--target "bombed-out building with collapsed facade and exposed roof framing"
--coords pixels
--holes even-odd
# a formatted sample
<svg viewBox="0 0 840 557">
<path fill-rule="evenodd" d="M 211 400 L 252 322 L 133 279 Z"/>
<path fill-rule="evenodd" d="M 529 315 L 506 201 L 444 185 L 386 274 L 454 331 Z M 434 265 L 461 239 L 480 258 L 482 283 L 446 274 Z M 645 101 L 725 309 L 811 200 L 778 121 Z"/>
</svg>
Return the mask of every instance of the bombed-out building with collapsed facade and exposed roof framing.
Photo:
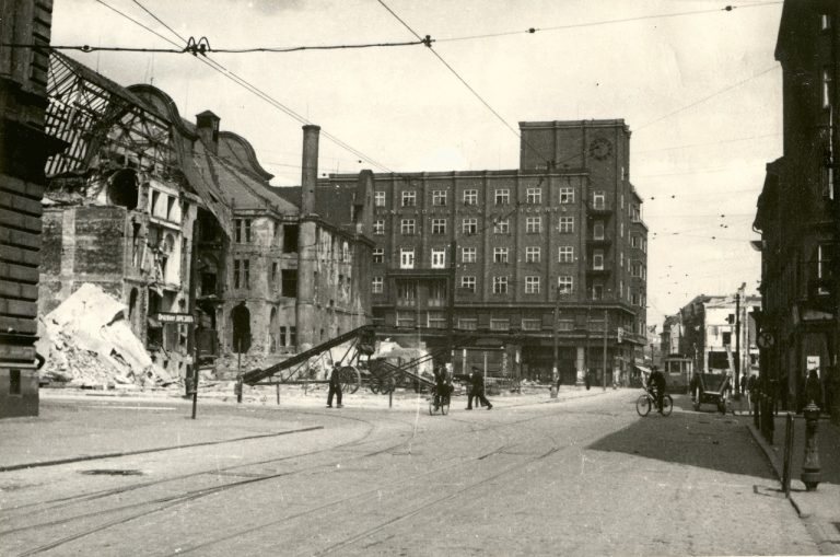
<svg viewBox="0 0 840 557">
<path fill-rule="evenodd" d="M 42 314 L 94 283 L 180 374 L 189 330 L 166 314 L 198 317 L 203 355 L 255 357 L 369 321 L 363 231 L 324 221 L 306 209 L 314 199 L 299 207 L 278 195 L 217 115 L 188 121 L 163 91 L 124 88 L 61 54 L 49 78 L 47 127 L 70 147 L 46 165 Z M 304 166 L 317 172 L 317 127 L 304 131 Z"/>
</svg>

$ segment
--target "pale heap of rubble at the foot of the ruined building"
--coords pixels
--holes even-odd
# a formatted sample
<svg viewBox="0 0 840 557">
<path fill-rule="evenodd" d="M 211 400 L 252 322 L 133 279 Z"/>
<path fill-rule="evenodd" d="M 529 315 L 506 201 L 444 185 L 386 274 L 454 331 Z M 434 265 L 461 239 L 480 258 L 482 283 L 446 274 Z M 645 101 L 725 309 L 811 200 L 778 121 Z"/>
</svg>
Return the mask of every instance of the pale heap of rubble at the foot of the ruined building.
<svg viewBox="0 0 840 557">
<path fill-rule="evenodd" d="M 131 332 L 125 306 L 93 285 L 82 285 L 38 325 L 43 382 L 88 388 L 175 382 Z"/>
</svg>

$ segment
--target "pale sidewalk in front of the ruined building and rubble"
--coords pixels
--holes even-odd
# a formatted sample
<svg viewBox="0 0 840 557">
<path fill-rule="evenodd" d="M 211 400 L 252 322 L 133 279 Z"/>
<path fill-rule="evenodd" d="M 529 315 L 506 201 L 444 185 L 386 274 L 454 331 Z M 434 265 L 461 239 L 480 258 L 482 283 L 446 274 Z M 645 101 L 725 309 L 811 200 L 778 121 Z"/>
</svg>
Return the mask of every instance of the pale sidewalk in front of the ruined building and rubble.
<svg viewBox="0 0 840 557">
<path fill-rule="evenodd" d="M 523 394 L 491 396 L 490 401 L 497 411 L 603 393 L 600 388 L 586 391 L 568 386 L 561 387 L 558 398 L 550 398 L 548 387 L 529 388 Z M 284 385 L 278 406 L 273 386 L 247 387 L 243 404 L 237 404 L 231 382 L 219 385 L 215 391 L 199 391 L 198 419 L 192 420 L 191 401 L 180 395 L 178 390 L 127 393 L 42 390 L 40 416 L 0 420 L 0 473 L 324 429 L 330 427 L 328 418 L 342 411 L 325 408 L 325 386 L 310 387 L 304 393 L 300 387 Z M 400 391 L 390 402 L 389 408 L 388 396 L 366 390 L 346 394 L 343 399 L 347 410 L 413 413 L 419 405 L 423 413 L 428 411 L 427 394 Z M 456 396 L 451 411 L 460 413 L 465 406 L 466 396 Z M 281 416 L 277 410 L 287 411 Z"/>
</svg>

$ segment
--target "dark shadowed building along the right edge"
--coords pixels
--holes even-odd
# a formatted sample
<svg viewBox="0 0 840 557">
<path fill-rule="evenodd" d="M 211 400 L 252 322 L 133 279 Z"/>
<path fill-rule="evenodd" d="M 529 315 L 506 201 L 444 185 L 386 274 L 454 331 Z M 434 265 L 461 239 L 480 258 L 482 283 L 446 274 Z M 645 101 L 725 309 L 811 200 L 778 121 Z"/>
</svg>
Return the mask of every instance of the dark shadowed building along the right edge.
<svg viewBox="0 0 840 557">
<path fill-rule="evenodd" d="M 754 227 L 761 232 L 767 392 L 786 408 L 805 404 L 808 361 L 819 362 L 824 392 L 840 393 L 838 288 L 840 240 L 840 18 L 836 2 L 785 1 L 775 59 L 782 67 L 783 156 L 767 165 Z M 835 265 L 832 265 L 832 262 Z M 778 388 L 777 388 L 778 387 Z M 840 396 L 833 397 L 840 405 Z M 819 404 L 819 403 L 818 403 Z M 832 411 L 840 415 L 840 407 Z"/>
</svg>

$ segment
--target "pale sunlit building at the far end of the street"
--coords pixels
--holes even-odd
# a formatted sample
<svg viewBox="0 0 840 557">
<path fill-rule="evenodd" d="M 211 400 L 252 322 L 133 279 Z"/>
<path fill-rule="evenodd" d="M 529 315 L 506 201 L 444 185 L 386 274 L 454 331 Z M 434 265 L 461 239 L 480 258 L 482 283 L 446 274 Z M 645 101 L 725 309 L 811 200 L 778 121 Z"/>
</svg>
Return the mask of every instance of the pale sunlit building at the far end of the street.
<svg viewBox="0 0 840 557">
<path fill-rule="evenodd" d="M 693 369 L 699 372 L 726 373 L 739 369 L 757 373 L 759 352 L 752 310 L 760 304 L 761 298 L 754 295 L 743 297 L 740 303 L 736 303 L 734 295 L 696 297 L 679 311 L 679 347 L 672 353 L 692 358 Z M 673 338 L 670 343 L 673 349 Z"/>
</svg>

